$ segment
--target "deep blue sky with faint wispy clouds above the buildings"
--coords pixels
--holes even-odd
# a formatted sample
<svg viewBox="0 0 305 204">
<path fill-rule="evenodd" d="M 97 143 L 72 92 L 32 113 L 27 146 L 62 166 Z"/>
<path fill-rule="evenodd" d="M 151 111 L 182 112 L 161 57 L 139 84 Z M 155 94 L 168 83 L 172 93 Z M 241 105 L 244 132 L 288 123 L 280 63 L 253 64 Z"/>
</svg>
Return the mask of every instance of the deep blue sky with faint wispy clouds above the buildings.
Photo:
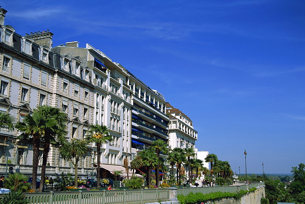
<svg viewBox="0 0 305 204">
<path fill-rule="evenodd" d="M 245 173 L 305 163 L 304 1 L 0 1 L 17 33 L 104 52 L 179 108 L 196 147 Z"/>
</svg>

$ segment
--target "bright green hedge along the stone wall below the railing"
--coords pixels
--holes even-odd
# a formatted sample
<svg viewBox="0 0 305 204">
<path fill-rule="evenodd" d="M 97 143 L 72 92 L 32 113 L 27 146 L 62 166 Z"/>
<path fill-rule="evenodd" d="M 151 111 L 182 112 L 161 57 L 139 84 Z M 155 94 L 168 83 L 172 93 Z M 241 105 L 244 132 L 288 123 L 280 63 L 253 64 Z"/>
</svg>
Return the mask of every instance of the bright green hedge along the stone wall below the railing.
<svg viewBox="0 0 305 204">
<path fill-rule="evenodd" d="M 213 192 L 208 194 L 203 193 L 192 193 L 190 192 L 187 196 L 184 195 L 177 195 L 177 199 L 181 204 L 188 204 L 188 203 L 195 203 L 195 202 L 205 202 L 207 200 L 214 200 L 214 199 L 221 199 L 221 198 L 234 198 L 234 199 L 241 199 L 242 195 L 255 191 L 256 188 L 251 188 L 248 190 L 240 190 L 236 193 L 229 193 L 229 192 Z"/>
</svg>

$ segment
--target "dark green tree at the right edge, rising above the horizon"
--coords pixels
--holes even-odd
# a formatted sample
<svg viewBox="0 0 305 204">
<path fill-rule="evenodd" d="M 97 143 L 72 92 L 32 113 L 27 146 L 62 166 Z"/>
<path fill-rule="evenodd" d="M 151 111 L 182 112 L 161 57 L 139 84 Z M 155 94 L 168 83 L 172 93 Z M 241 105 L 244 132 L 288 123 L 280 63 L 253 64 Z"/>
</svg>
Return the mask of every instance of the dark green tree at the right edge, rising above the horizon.
<svg viewBox="0 0 305 204">
<path fill-rule="evenodd" d="M 289 192 L 298 194 L 305 191 L 305 164 L 300 163 L 299 167 L 292 167 L 293 181 L 289 186 Z"/>
</svg>

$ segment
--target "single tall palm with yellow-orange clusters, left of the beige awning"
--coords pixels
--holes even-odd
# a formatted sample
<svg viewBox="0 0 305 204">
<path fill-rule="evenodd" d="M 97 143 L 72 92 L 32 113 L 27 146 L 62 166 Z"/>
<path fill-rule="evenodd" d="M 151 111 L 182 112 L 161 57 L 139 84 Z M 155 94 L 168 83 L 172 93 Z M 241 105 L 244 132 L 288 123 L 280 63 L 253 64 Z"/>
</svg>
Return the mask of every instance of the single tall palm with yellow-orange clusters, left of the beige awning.
<svg viewBox="0 0 305 204">
<path fill-rule="evenodd" d="M 97 169 L 96 169 L 96 181 L 97 188 L 99 188 L 99 168 L 101 161 L 101 145 L 108 142 L 113 142 L 114 139 L 109 135 L 110 128 L 107 128 L 106 125 L 90 125 L 90 129 L 87 131 L 89 135 L 85 135 L 85 139 L 89 142 L 96 143 L 97 151 Z"/>
</svg>

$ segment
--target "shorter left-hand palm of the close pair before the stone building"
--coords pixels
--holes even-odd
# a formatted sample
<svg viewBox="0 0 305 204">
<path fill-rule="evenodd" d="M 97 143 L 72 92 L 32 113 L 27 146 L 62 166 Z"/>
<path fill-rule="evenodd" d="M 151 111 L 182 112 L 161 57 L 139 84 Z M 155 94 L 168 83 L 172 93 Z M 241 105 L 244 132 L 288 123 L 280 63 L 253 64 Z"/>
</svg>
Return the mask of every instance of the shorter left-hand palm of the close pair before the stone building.
<svg viewBox="0 0 305 204">
<path fill-rule="evenodd" d="M 33 166 L 32 166 L 32 189 L 36 189 L 36 179 L 39 161 L 39 146 L 45 132 L 52 131 L 56 124 L 54 118 L 46 118 L 41 114 L 27 114 L 22 122 L 18 122 L 15 128 L 22 132 L 17 139 L 25 139 L 33 146 Z"/>
</svg>

